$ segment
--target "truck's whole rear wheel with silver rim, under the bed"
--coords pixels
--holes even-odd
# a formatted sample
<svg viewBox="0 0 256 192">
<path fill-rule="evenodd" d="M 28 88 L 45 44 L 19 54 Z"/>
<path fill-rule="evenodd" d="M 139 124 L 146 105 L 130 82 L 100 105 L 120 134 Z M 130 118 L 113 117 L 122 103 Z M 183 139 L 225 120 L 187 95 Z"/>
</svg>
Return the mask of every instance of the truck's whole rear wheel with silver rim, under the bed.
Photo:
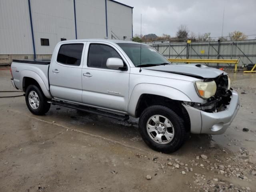
<svg viewBox="0 0 256 192">
<path fill-rule="evenodd" d="M 36 85 L 30 85 L 26 89 L 26 104 L 30 112 L 35 115 L 43 115 L 49 111 L 51 104 L 47 102 L 47 98 Z"/>
</svg>

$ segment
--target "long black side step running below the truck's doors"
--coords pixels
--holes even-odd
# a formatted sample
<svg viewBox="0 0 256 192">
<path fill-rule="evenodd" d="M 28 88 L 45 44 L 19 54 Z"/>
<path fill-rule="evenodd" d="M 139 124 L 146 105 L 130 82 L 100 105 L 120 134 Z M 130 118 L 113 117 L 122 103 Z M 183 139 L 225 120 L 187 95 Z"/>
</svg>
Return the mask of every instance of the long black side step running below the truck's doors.
<svg viewBox="0 0 256 192">
<path fill-rule="evenodd" d="M 108 112 L 108 111 L 93 108 L 93 107 L 70 104 L 68 102 L 56 101 L 56 100 L 52 100 L 50 103 L 52 105 L 59 105 L 59 106 L 72 108 L 72 109 L 76 109 L 76 110 L 80 110 L 80 111 L 84 111 L 84 112 L 88 112 L 88 113 L 92 113 L 92 114 L 97 114 L 97 115 L 101 115 L 101 116 L 105 116 L 105 117 L 110 117 L 110 118 L 114 118 L 114 119 L 118 119 L 118 120 L 122 120 L 122 121 L 126 121 L 129 119 L 128 115 L 122 115 L 122 114 L 117 114 L 114 112 Z"/>
</svg>

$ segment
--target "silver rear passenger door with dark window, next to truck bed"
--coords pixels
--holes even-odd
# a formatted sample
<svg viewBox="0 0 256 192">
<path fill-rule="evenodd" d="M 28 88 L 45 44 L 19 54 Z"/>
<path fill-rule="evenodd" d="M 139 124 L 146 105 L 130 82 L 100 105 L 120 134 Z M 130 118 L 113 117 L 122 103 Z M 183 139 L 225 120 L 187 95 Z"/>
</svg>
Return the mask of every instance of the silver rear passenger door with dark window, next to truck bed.
<svg viewBox="0 0 256 192">
<path fill-rule="evenodd" d="M 82 102 L 82 63 L 85 42 L 59 44 L 49 68 L 50 92 L 54 98 Z"/>
</svg>

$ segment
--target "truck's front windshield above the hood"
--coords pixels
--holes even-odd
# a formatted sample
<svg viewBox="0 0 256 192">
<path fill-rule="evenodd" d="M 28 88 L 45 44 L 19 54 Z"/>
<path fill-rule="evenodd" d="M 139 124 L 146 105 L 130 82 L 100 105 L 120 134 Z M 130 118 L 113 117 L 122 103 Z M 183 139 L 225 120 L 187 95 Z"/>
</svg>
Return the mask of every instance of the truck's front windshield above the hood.
<svg viewBox="0 0 256 192">
<path fill-rule="evenodd" d="M 136 67 L 170 64 L 164 56 L 150 46 L 132 43 L 118 43 L 118 45 L 124 50 Z"/>
</svg>

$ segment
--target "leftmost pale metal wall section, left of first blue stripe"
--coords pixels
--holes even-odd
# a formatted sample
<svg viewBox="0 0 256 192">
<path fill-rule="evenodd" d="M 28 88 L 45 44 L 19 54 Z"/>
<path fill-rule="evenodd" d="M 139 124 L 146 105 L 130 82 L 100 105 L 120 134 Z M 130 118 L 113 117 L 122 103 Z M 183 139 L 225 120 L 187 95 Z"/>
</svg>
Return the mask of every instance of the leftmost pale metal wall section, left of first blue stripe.
<svg viewBox="0 0 256 192">
<path fill-rule="evenodd" d="M 27 0 L 0 0 L 0 54 L 33 54 Z"/>
</svg>

